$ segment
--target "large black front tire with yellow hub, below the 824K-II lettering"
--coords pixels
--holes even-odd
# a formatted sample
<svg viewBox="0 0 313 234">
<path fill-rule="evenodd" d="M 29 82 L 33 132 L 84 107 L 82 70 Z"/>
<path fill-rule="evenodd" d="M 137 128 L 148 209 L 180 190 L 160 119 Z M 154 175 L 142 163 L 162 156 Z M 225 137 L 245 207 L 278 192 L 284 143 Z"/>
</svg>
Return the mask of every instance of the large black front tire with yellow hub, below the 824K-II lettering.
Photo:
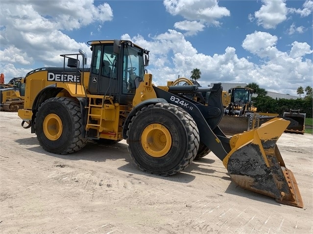
<svg viewBox="0 0 313 234">
<path fill-rule="evenodd" d="M 184 170 L 199 148 L 199 131 L 191 115 L 168 103 L 145 106 L 138 111 L 128 125 L 127 136 L 135 164 L 157 175 Z"/>
</svg>

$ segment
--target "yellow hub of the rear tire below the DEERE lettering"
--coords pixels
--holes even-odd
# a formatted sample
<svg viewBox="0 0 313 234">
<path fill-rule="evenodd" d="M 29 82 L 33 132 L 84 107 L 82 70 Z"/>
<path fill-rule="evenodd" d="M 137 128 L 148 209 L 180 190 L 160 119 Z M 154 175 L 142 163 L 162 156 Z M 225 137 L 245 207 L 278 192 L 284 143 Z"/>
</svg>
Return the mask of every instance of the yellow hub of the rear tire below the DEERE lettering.
<svg viewBox="0 0 313 234">
<path fill-rule="evenodd" d="M 44 120 L 44 133 L 51 141 L 59 139 L 63 131 L 60 117 L 56 114 L 48 114 Z"/>
</svg>

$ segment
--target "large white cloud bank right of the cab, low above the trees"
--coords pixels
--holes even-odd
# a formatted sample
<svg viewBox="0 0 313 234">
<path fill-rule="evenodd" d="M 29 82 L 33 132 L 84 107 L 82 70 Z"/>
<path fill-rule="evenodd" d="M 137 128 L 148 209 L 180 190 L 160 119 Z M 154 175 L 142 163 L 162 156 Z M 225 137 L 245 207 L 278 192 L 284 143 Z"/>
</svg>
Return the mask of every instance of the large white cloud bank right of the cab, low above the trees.
<svg viewBox="0 0 313 234">
<path fill-rule="evenodd" d="M 166 85 L 169 80 L 180 77 L 190 78 L 193 68 L 199 68 L 202 75 L 199 83 L 206 86 L 210 83 L 252 83 L 255 82 L 267 91 L 294 94 L 295 90 L 286 87 L 308 84 L 313 76 L 313 63 L 302 56 L 312 53 L 307 43 L 292 44 L 290 55 L 277 49 L 277 36 L 265 32 L 254 32 L 246 36 L 242 46 L 251 53 L 266 58 L 260 65 L 239 58 L 233 47 L 227 47 L 223 54 L 205 55 L 181 33 L 169 30 L 150 41 L 142 36 L 122 39 L 131 40 L 144 48 L 155 48 L 150 52 L 148 71 L 153 74 L 156 85 Z M 172 54 L 168 57 L 168 54 Z"/>
</svg>

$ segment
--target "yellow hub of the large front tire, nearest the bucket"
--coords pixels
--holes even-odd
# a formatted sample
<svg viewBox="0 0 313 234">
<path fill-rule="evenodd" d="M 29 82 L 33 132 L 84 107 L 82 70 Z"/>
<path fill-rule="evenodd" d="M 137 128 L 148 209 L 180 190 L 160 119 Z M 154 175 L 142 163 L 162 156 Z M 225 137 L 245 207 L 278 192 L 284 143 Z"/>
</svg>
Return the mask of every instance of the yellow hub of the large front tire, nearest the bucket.
<svg viewBox="0 0 313 234">
<path fill-rule="evenodd" d="M 141 135 L 141 144 L 144 151 L 151 157 L 163 157 L 172 146 L 172 137 L 169 129 L 161 124 L 150 124 Z"/>
</svg>

